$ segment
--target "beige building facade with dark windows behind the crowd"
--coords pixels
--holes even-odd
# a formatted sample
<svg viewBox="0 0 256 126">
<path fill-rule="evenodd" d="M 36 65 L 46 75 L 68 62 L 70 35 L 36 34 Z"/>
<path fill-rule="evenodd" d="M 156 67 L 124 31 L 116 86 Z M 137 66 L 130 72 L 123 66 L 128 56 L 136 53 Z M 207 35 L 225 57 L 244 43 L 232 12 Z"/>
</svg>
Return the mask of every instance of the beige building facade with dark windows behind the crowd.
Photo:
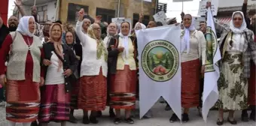
<svg viewBox="0 0 256 126">
<path fill-rule="evenodd" d="M 111 23 L 111 19 L 118 17 L 119 14 L 119 17 L 130 18 L 134 26 L 139 20 L 139 13 L 143 10 L 145 15 L 143 22 L 147 25 L 150 20 L 153 20 L 152 15 L 154 15 L 156 4 L 156 0 L 143 1 L 143 4 L 142 0 L 62 0 L 59 19 L 62 22 L 75 23 L 78 20 L 78 11 L 84 8 L 90 17 L 95 18 L 101 15 L 102 21 Z"/>
</svg>

